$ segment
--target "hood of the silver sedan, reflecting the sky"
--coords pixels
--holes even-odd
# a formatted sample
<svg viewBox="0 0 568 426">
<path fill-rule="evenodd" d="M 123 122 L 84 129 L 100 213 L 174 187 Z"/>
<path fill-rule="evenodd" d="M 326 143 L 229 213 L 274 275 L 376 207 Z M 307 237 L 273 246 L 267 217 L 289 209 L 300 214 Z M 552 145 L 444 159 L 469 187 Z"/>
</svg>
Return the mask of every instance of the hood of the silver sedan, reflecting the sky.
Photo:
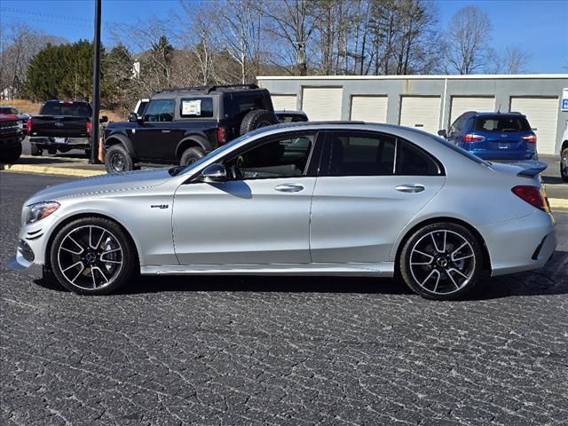
<svg viewBox="0 0 568 426">
<path fill-rule="evenodd" d="M 26 201 L 26 205 L 39 201 L 60 200 L 62 198 L 79 195 L 151 188 L 162 185 L 164 182 L 170 180 L 170 178 L 170 173 L 168 173 L 167 169 L 130 171 L 112 175 L 86 177 L 83 179 L 70 180 L 60 185 L 48 186 L 29 198 L 28 201 Z"/>
</svg>

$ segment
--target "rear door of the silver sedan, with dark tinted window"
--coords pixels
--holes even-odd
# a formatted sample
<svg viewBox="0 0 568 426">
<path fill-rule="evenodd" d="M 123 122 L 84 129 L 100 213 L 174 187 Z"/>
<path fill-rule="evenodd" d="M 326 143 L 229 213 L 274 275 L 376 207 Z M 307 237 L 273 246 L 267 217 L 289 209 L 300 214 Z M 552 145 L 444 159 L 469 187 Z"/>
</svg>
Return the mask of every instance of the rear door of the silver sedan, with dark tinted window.
<svg viewBox="0 0 568 426">
<path fill-rule="evenodd" d="M 320 170 L 312 201 L 312 261 L 391 260 L 398 233 L 444 185 L 442 167 L 385 133 L 330 131 L 325 140 L 328 168 Z"/>
</svg>

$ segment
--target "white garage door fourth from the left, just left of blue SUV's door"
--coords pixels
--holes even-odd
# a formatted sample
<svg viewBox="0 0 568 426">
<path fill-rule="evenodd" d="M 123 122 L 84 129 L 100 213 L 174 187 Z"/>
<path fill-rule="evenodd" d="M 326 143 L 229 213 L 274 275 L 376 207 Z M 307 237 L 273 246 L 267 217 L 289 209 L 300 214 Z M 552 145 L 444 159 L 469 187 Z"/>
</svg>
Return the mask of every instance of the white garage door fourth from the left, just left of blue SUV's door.
<svg viewBox="0 0 568 426">
<path fill-rule="evenodd" d="M 400 125 L 437 134 L 440 122 L 440 97 L 403 96 Z"/>
</svg>

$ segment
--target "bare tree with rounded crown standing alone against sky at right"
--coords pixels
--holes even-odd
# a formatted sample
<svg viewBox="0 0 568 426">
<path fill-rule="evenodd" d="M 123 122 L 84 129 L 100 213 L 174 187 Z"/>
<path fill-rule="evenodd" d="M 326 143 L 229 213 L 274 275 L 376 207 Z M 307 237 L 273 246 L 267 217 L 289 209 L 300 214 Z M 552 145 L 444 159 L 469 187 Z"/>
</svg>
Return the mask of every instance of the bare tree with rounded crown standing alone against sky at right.
<svg viewBox="0 0 568 426">
<path fill-rule="evenodd" d="M 492 30 L 489 16 L 477 6 L 465 6 L 454 14 L 449 28 L 445 37 L 448 70 L 465 75 L 484 67 Z"/>
</svg>

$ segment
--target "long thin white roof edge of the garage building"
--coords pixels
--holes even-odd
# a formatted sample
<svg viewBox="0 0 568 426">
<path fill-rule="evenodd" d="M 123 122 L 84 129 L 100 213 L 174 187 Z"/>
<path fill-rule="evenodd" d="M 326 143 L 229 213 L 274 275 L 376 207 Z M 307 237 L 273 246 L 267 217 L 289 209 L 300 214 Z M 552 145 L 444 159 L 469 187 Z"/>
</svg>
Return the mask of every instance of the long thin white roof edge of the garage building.
<svg viewBox="0 0 568 426">
<path fill-rule="evenodd" d="M 478 74 L 478 75 L 258 75 L 259 81 L 266 80 L 514 80 L 514 79 L 566 78 L 568 74 Z"/>
</svg>

